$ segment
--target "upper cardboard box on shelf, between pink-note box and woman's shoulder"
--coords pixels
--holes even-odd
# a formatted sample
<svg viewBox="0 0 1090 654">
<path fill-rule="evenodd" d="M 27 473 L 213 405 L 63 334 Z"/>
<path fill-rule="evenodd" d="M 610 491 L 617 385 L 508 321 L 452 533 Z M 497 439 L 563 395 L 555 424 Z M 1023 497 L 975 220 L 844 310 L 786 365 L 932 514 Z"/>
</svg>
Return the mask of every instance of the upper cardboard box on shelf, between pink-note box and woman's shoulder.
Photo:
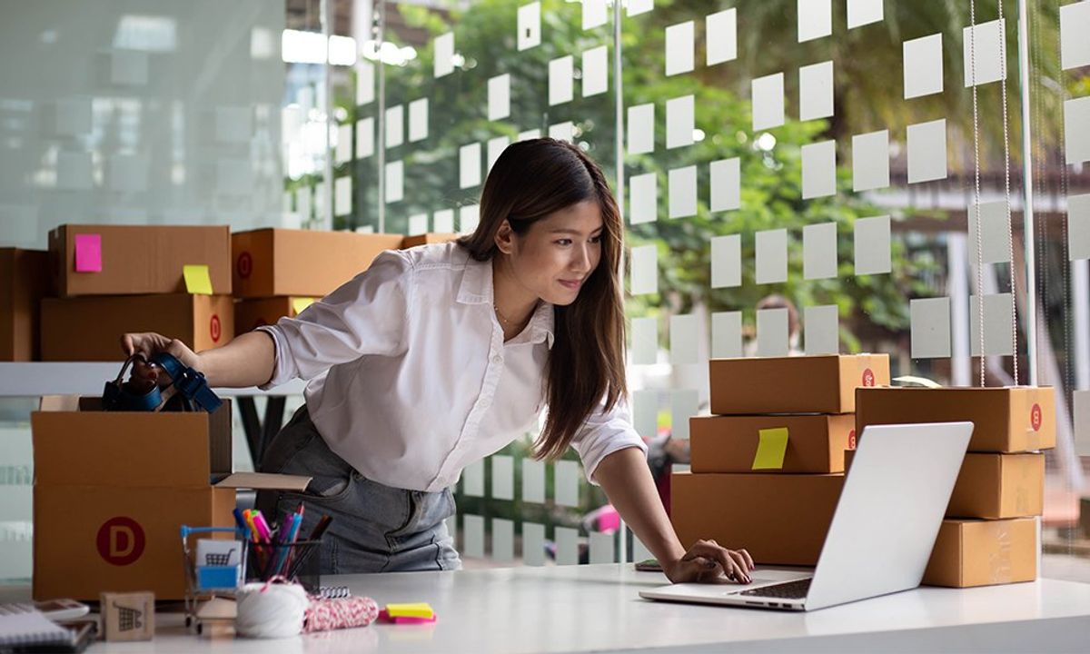
<svg viewBox="0 0 1090 654">
<path fill-rule="evenodd" d="M 231 234 L 235 298 L 324 298 L 367 269 L 401 234 L 258 229 Z"/>
</svg>

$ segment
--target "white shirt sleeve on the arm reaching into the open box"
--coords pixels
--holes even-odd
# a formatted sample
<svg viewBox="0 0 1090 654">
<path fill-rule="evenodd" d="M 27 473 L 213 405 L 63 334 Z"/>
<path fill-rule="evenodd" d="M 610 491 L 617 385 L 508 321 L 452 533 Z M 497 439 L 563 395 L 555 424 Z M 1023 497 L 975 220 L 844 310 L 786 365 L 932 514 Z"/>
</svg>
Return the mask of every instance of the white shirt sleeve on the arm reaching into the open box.
<svg viewBox="0 0 1090 654">
<path fill-rule="evenodd" d="M 259 388 L 296 377 L 311 379 L 338 363 L 366 354 L 404 351 L 412 263 L 398 251 L 380 253 L 371 266 L 294 318 L 258 327 L 272 337 L 276 370 Z"/>
</svg>

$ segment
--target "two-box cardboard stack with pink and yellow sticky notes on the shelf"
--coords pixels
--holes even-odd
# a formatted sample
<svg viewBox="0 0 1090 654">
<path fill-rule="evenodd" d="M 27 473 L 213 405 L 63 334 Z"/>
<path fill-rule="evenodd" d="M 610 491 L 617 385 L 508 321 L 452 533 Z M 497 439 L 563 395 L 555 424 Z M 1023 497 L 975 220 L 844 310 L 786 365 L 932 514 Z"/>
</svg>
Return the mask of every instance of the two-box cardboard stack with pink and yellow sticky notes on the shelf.
<svg viewBox="0 0 1090 654">
<path fill-rule="evenodd" d="M 226 226 L 65 225 L 49 232 L 49 258 L 43 361 L 120 361 L 118 338 L 129 331 L 195 350 L 234 335 Z"/>
</svg>

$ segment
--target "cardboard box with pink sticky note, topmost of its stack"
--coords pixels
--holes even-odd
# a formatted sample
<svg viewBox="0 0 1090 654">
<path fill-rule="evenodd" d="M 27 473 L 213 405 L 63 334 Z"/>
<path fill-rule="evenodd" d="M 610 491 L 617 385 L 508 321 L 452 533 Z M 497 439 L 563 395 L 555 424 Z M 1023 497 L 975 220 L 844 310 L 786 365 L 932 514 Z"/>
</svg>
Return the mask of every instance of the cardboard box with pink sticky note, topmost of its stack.
<svg viewBox="0 0 1090 654">
<path fill-rule="evenodd" d="M 98 256 L 94 247 L 76 239 L 80 234 L 98 237 Z M 88 271 L 78 271 L 77 247 L 81 265 Z M 49 255 L 55 294 L 60 298 L 184 293 L 186 265 L 208 266 L 213 292 L 231 294 L 231 240 L 226 225 L 62 225 L 49 232 Z M 96 267 L 100 269 L 95 271 Z"/>
</svg>

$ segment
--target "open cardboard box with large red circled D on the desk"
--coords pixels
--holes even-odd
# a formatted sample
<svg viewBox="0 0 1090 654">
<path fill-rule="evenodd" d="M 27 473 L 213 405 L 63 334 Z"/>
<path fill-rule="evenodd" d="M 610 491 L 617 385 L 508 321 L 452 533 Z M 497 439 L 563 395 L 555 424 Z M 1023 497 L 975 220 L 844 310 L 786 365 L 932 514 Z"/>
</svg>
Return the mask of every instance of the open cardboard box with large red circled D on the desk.
<svg viewBox="0 0 1090 654">
<path fill-rule="evenodd" d="M 230 404 L 216 413 L 104 413 L 43 401 L 34 440 L 34 597 L 185 591 L 179 528 L 233 526 L 235 488 L 308 477 L 228 474 Z"/>
</svg>

